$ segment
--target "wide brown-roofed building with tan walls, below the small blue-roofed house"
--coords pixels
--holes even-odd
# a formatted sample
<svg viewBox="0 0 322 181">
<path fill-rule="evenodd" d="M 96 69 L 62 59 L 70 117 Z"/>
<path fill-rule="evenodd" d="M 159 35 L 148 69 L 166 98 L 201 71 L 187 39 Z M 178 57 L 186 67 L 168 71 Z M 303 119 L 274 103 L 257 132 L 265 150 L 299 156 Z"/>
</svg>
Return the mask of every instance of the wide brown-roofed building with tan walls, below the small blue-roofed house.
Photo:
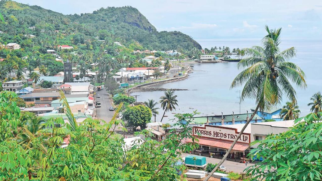
<svg viewBox="0 0 322 181">
<path fill-rule="evenodd" d="M 34 107 L 51 107 L 53 100 L 60 99 L 59 92 L 33 92 L 20 96 L 26 104 L 34 104 Z"/>
</svg>

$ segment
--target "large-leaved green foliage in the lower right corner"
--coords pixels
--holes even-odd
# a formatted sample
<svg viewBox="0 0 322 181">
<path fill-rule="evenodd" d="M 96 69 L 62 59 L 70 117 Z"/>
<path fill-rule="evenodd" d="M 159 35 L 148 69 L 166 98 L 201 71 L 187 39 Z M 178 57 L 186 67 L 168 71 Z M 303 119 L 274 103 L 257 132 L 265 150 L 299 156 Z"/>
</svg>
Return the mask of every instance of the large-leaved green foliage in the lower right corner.
<svg viewBox="0 0 322 181">
<path fill-rule="evenodd" d="M 318 113 L 318 114 L 321 114 Z M 250 156 L 263 161 L 248 167 L 246 173 L 254 180 L 320 181 L 322 177 L 322 122 L 316 113 L 295 120 L 289 131 L 268 135 L 252 149 Z"/>
</svg>

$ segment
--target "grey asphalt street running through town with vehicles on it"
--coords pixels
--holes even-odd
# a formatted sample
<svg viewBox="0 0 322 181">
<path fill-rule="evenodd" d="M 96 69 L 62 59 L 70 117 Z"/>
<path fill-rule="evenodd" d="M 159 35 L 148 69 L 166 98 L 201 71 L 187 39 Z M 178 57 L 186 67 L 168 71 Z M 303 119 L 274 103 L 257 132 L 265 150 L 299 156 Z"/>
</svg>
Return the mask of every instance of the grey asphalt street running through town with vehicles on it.
<svg viewBox="0 0 322 181">
<path fill-rule="evenodd" d="M 109 100 L 109 95 L 105 89 L 97 91 L 96 94 L 100 95 L 100 98 L 95 98 L 96 102 L 101 102 L 101 107 L 96 108 L 96 116 L 98 119 L 110 122 L 112 120 L 114 111 L 109 111 L 109 107 L 112 106 L 111 101 Z"/>
</svg>

